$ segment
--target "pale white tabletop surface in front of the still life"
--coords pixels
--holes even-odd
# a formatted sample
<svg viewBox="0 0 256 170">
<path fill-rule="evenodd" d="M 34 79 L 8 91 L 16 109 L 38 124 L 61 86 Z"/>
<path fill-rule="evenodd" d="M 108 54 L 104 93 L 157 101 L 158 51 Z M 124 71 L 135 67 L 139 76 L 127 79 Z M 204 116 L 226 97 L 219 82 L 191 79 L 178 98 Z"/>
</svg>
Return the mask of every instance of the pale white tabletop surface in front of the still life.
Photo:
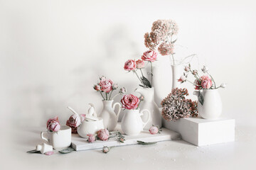
<svg viewBox="0 0 256 170">
<path fill-rule="evenodd" d="M 1 130 L 0 169 L 255 169 L 256 128 L 236 128 L 235 142 L 196 147 L 187 142 L 115 147 L 70 154 L 27 154 L 45 128 Z"/>
</svg>

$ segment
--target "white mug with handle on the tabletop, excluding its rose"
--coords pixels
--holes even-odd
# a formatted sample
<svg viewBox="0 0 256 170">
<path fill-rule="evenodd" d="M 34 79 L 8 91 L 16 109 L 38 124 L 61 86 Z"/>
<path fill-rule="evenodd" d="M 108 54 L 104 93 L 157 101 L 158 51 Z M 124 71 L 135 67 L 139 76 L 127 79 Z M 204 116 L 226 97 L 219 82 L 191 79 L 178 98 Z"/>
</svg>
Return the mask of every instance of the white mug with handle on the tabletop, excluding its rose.
<svg viewBox="0 0 256 170">
<path fill-rule="evenodd" d="M 54 149 L 63 149 L 71 145 L 71 128 L 67 125 L 60 125 L 58 132 L 41 132 L 41 138 L 52 145 Z"/>
</svg>

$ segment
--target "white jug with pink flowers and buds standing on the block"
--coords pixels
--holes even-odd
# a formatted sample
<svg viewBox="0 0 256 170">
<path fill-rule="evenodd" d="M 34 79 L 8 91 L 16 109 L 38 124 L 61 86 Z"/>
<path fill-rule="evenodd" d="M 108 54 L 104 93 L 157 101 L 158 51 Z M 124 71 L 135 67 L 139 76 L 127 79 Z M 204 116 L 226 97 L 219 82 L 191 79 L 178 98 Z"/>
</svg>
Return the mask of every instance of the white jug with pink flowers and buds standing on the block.
<svg viewBox="0 0 256 170">
<path fill-rule="evenodd" d="M 199 76 L 196 69 L 191 69 L 191 64 L 185 67 L 185 72 L 179 82 L 190 82 L 195 87 L 196 91 L 193 92 L 194 95 L 198 97 L 198 113 L 202 118 L 215 120 L 220 117 L 222 113 L 222 102 L 220 94 L 218 93 L 219 88 L 225 88 L 225 84 L 216 86 L 213 77 L 209 74 L 208 68 L 203 66 L 202 72 L 203 76 Z M 192 74 L 195 80 L 189 81 L 188 74 Z"/>
</svg>

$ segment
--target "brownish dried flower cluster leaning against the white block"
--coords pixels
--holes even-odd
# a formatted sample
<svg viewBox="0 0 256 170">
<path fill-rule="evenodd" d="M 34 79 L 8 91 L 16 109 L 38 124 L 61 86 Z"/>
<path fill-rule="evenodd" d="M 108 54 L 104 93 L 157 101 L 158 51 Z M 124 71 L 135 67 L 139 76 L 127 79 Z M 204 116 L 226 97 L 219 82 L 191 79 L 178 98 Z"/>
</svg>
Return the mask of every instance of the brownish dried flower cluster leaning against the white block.
<svg viewBox="0 0 256 170">
<path fill-rule="evenodd" d="M 188 96 L 188 90 L 184 89 L 173 89 L 161 102 L 163 106 L 162 116 L 165 120 L 178 120 L 179 118 L 188 118 L 189 116 L 196 117 L 198 115 L 197 102 L 186 99 Z"/>
</svg>

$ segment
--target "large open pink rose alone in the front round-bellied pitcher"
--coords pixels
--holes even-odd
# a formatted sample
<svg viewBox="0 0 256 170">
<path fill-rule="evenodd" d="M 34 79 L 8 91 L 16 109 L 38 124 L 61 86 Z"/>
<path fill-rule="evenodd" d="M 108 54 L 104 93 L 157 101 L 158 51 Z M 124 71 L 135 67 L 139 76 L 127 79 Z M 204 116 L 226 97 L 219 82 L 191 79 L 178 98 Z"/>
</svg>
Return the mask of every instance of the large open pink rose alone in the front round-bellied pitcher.
<svg viewBox="0 0 256 170">
<path fill-rule="evenodd" d="M 132 94 L 127 94 L 122 97 L 121 103 L 123 108 L 129 109 L 129 110 L 137 109 L 139 106 L 139 98 Z"/>
</svg>

